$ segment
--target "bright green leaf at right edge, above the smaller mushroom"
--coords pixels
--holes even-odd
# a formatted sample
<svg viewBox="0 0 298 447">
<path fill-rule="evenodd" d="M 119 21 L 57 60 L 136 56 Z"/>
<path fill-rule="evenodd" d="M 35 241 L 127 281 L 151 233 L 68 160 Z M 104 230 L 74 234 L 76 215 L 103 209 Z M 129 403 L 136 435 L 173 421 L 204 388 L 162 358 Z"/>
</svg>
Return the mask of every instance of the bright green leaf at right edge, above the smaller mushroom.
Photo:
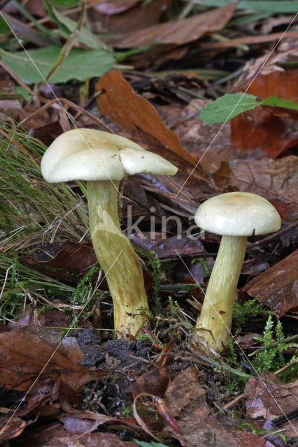
<svg viewBox="0 0 298 447">
<path fill-rule="evenodd" d="M 208 124 L 227 122 L 247 110 L 253 110 L 259 105 L 275 105 L 277 107 L 298 110 L 298 104 L 293 101 L 269 96 L 263 101 L 257 101 L 257 96 L 245 94 L 241 91 L 234 94 L 225 94 L 207 104 L 200 112 L 199 119 Z"/>
</svg>

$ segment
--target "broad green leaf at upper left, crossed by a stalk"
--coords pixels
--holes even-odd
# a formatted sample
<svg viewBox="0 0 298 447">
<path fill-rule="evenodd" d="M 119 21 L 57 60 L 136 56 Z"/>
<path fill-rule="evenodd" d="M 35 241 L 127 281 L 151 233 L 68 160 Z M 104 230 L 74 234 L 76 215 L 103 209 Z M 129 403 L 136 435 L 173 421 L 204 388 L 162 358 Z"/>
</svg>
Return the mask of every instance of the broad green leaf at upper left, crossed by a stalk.
<svg viewBox="0 0 298 447">
<path fill-rule="evenodd" d="M 52 45 L 28 52 L 8 53 L 0 50 L 0 55 L 3 62 L 20 76 L 23 82 L 35 84 L 43 82 L 47 77 L 60 51 L 61 47 Z M 88 77 L 98 78 L 113 67 L 114 61 L 113 54 L 105 50 L 73 48 L 52 75 L 50 82 L 56 84 L 71 79 L 85 81 Z"/>
</svg>

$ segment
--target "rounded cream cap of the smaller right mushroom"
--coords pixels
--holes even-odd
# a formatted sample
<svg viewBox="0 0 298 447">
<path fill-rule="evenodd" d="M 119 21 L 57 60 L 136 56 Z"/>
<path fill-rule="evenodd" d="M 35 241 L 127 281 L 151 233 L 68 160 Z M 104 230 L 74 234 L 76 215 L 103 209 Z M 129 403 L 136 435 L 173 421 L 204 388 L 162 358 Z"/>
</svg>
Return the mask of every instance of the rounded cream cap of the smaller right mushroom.
<svg viewBox="0 0 298 447">
<path fill-rule="evenodd" d="M 265 235 L 281 228 L 281 217 L 268 200 L 244 192 L 209 198 L 197 209 L 194 221 L 204 230 L 225 236 Z"/>
</svg>

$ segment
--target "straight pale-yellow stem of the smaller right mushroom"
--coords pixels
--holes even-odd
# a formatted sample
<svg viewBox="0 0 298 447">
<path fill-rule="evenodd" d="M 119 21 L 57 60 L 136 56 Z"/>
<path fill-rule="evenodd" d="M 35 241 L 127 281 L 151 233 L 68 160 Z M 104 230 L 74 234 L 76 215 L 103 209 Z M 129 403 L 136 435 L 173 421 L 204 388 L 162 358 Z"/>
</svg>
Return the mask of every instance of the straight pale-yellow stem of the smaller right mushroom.
<svg viewBox="0 0 298 447">
<path fill-rule="evenodd" d="M 246 254 L 246 236 L 222 236 L 194 337 L 220 351 L 229 339 L 237 283 Z"/>
</svg>

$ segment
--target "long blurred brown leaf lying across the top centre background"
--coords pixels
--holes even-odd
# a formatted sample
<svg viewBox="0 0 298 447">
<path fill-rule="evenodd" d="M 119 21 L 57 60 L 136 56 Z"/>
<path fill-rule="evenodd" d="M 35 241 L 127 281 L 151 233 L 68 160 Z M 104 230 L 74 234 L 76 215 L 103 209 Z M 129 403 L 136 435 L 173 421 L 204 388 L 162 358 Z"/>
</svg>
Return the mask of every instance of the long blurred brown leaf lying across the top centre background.
<svg viewBox="0 0 298 447">
<path fill-rule="evenodd" d="M 236 3 L 229 3 L 222 8 L 208 10 L 206 13 L 188 17 L 184 20 L 153 25 L 129 33 L 115 47 L 141 47 L 150 44 L 183 45 L 196 41 L 208 31 L 219 31 L 230 20 Z"/>
</svg>

